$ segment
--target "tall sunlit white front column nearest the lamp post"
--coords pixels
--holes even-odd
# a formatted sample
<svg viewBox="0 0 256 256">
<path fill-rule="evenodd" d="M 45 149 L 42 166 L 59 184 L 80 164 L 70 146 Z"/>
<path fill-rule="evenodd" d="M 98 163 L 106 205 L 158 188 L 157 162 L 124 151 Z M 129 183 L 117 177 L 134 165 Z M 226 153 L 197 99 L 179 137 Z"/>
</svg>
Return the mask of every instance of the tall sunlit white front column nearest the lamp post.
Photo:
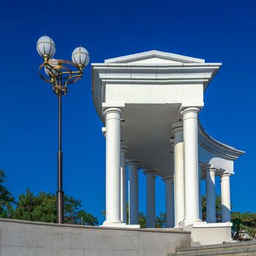
<svg viewBox="0 0 256 256">
<path fill-rule="evenodd" d="M 106 220 L 103 225 L 121 222 L 121 112 L 122 110 L 119 108 L 107 108 L 104 111 L 106 123 Z"/>
</svg>

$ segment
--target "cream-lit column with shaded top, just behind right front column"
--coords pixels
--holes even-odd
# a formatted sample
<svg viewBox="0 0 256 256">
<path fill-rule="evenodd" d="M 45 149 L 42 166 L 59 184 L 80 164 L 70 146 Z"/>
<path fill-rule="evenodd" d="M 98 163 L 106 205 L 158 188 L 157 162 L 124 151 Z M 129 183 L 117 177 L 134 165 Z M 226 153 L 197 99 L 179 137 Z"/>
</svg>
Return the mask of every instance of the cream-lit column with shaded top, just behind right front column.
<svg viewBox="0 0 256 256">
<path fill-rule="evenodd" d="M 182 124 L 173 124 L 174 134 L 174 204 L 175 226 L 184 221 L 184 143 Z"/>
</svg>

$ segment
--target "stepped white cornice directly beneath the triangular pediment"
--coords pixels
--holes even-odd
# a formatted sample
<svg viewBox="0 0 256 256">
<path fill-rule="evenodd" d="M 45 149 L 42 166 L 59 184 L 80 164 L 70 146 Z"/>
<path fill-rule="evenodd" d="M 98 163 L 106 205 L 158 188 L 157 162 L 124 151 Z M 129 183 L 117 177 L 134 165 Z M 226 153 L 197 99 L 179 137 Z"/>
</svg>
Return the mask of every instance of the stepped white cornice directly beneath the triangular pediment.
<svg viewBox="0 0 256 256">
<path fill-rule="evenodd" d="M 181 63 L 181 64 L 91 64 L 91 91 L 99 116 L 101 104 L 105 101 L 105 84 L 203 84 L 208 83 L 221 67 L 220 63 Z"/>
</svg>

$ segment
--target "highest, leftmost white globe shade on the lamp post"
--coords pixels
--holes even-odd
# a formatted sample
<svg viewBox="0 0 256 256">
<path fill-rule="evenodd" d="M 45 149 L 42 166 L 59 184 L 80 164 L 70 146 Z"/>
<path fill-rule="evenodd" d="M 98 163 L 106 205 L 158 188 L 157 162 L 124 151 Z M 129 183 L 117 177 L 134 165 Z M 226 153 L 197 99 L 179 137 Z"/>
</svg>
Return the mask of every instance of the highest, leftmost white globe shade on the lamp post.
<svg viewBox="0 0 256 256">
<path fill-rule="evenodd" d="M 39 56 L 50 59 L 54 55 L 55 51 L 55 43 L 50 37 L 43 36 L 37 40 L 37 52 L 39 53 Z"/>
</svg>

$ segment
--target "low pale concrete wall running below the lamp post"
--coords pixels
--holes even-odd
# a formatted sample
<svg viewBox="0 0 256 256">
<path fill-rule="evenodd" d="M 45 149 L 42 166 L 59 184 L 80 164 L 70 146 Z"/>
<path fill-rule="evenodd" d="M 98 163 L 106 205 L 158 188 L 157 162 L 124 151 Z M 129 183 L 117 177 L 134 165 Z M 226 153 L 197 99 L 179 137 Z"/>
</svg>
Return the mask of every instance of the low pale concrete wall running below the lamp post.
<svg viewBox="0 0 256 256">
<path fill-rule="evenodd" d="M 190 246 L 177 229 L 89 227 L 0 219 L 0 256 L 166 256 Z"/>
</svg>

